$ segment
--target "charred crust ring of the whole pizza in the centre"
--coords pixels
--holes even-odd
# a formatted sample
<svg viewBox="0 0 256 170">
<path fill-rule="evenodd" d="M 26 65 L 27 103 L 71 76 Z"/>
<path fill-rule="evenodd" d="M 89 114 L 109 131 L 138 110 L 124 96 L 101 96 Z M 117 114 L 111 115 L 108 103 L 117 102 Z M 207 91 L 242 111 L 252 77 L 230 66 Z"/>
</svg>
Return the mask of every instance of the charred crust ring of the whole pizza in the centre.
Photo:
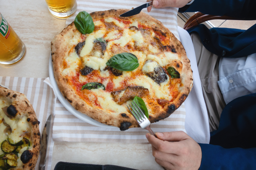
<svg viewBox="0 0 256 170">
<path fill-rule="evenodd" d="M 108 17 L 116 17 L 123 20 L 137 20 L 148 27 L 153 28 L 160 32 L 163 36 L 169 37 L 170 42 L 165 46 L 174 50 L 179 56 L 182 56 L 181 62 L 183 63 L 181 72 L 181 83 L 180 93 L 173 102 L 166 104 L 162 111 L 157 114 L 149 115 L 149 120 L 151 123 L 157 122 L 164 118 L 169 117 L 187 98 L 192 86 L 193 86 L 193 76 L 192 70 L 190 68 L 190 61 L 186 56 L 186 52 L 181 42 L 157 19 L 147 15 L 143 12 L 131 17 L 119 17 L 120 14 L 127 12 L 128 10 L 109 10 L 109 11 L 98 11 L 91 13 L 91 17 L 94 20 L 100 20 Z M 129 113 L 121 114 L 107 114 L 103 109 L 95 108 L 89 106 L 83 99 L 76 95 L 75 90 L 69 85 L 69 80 L 61 75 L 62 72 L 62 61 L 65 56 L 69 54 L 70 49 L 68 49 L 67 37 L 72 38 L 78 30 L 76 29 L 74 22 L 72 22 L 67 28 L 65 28 L 60 34 L 56 35 L 53 39 L 52 45 L 52 62 L 54 69 L 54 76 L 57 81 L 58 87 L 62 95 L 70 102 L 70 104 L 81 113 L 90 116 L 91 118 L 112 126 L 117 126 L 121 131 L 127 130 L 129 128 L 139 127 L 136 120 Z M 179 64 L 177 65 L 179 69 Z"/>
</svg>

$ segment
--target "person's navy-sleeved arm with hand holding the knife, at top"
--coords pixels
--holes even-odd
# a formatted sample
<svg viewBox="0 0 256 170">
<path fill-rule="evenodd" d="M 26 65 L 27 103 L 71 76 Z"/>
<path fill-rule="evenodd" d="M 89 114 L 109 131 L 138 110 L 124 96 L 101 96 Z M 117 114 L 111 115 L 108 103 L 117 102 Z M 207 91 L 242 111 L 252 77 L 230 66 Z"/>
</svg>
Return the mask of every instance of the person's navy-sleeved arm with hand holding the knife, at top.
<svg viewBox="0 0 256 170">
<path fill-rule="evenodd" d="M 150 0 L 147 0 L 150 1 Z M 186 5 L 191 0 L 154 0 L 155 8 L 178 7 L 179 12 L 201 12 L 208 15 L 230 16 L 236 18 L 256 18 L 255 0 L 195 0 L 191 5 Z M 148 12 L 151 7 L 148 7 Z"/>
</svg>

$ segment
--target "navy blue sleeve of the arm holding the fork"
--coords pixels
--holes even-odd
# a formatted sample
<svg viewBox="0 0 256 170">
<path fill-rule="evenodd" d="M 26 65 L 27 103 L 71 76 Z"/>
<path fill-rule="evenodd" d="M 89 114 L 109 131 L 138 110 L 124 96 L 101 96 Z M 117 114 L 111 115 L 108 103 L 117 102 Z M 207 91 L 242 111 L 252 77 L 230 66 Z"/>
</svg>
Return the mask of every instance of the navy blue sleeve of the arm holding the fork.
<svg viewBox="0 0 256 170">
<path fill-rule="evenodd" d="M 199 145 L 202 150 L 199 170 L 252 170 L 256 167 L 256 148 L 225 149 L 210 144 Z"/>
</svg>

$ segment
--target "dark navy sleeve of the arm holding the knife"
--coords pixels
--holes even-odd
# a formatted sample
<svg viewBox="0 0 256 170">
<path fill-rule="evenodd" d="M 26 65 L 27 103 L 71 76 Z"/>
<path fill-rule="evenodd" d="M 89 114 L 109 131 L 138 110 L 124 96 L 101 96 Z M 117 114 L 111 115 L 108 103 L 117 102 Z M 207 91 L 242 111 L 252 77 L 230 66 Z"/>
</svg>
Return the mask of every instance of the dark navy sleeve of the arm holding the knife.
<svg viewBox="0 0 256 170">
<path fill-rule="evenodd" d="M 195 0 L 191 5 L 179 8 L 179 12 L 201 12 L 208 15 L 255 19 L 255 8 L 255 0 Z"/>
</svg>

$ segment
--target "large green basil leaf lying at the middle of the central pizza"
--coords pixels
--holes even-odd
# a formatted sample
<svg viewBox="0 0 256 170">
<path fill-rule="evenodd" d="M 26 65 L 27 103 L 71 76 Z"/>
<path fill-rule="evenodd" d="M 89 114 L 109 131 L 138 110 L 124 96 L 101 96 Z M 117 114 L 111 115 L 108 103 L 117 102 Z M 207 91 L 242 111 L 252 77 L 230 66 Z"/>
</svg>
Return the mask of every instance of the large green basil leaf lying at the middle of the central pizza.
<svg viewBox="0 0 256 170">
<path fill-rule="evenodd" d="M 139 67 L 140 64 L 136 55 L 120 53 L 111 57 L 106 65 L 121 71 L 132 71 Z"/>
</svg>

